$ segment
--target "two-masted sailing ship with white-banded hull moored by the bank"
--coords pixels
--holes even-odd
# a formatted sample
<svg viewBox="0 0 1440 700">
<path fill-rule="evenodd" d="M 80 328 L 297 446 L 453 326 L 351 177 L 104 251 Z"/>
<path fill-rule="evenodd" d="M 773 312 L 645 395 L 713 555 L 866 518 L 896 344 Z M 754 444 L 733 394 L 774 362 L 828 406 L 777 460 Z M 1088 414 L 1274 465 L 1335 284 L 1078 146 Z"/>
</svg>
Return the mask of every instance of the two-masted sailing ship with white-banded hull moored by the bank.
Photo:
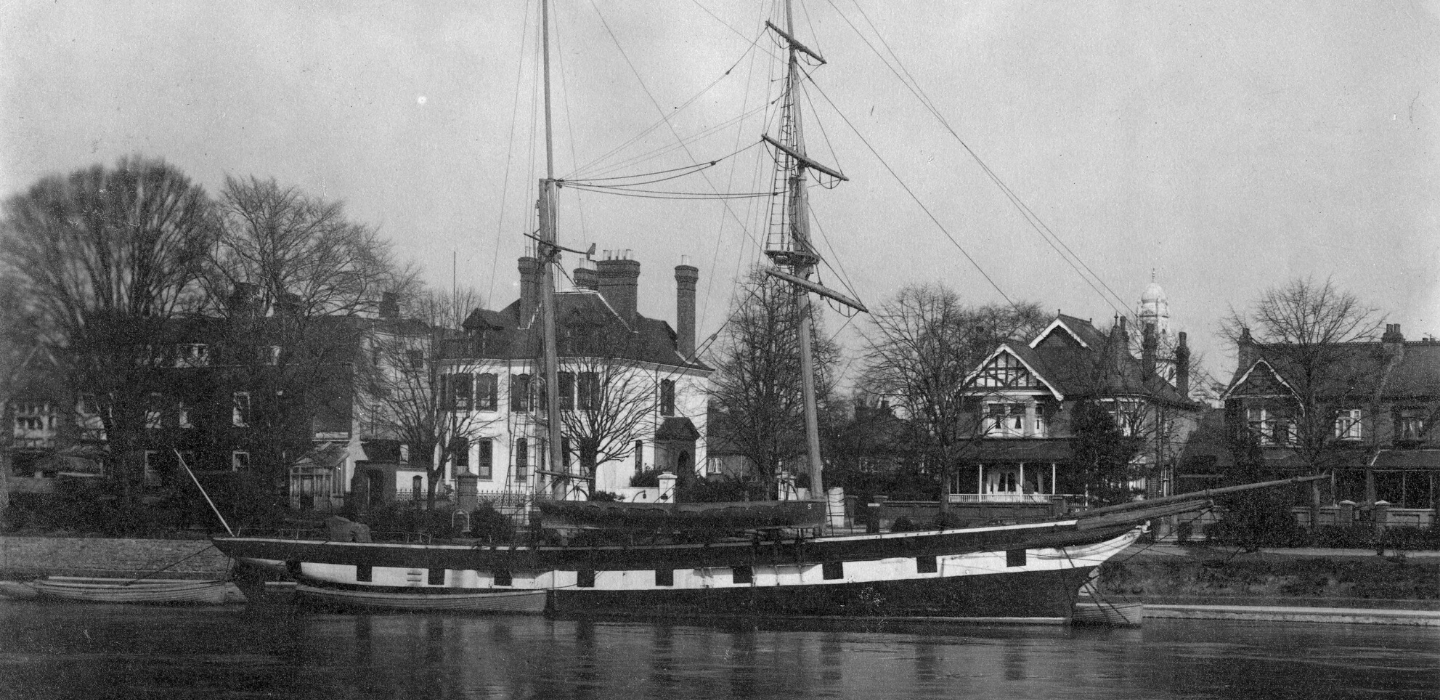
<svg viewBox="0 0 1440 700">
<path fill-rule="evenodd" d="M 547 14 L 549 3 L 541 3 L 546 29 Z M 809 317 L 811 295 L 864 311 L 860 302 L 815 281 L 819 256 L 809 236 L 808 180 L 816 173 L 832 180 L 845 176 L 806 154 L 798 97 L 801 59 L 824 63 L 824 58 L 796 39 L 789 4 L 783 24 L 766 22 L 788 60 L 779 134 L 763 137 L 776 160 L 779 192 L 772 220 L 783 226 L 783 235 L 768 251 L 768 274 L 793 285 L 801 318 Z M 544 46 L 547 174 L 540 181 L 540 230 L 531 238 L 543 262 L 541 360 L 550 412 L 546 429 L 549 444 L 559 445 L 554 271 L 559 252 L 570 249 L 556 238 L 559 180 L 549 134 L 549 39 Z M 809 323 L 799 324 L 799 357 L 811 493 L 827 494 Z M 567 472 L 559 449 L 549 452 L 547 472 Z M 552 501 L 540 504 L 552 523 L 658 536 L 586 544 L 539 539 L 490 544 L 228 536 L 216 537 L 215 544 L 242 562 L 285 570 L 300 582 L 301 596 L 363 606 L 1064 622 L 1092 573 L 1133 544 L 1151 519 L 1210 507 L 1224 491 L 1277 484 L 1129 503 L 1044 521 L 929 531 L 838 533 L 829 529 L 828 500 L 704 506 Z"/>
</svg>

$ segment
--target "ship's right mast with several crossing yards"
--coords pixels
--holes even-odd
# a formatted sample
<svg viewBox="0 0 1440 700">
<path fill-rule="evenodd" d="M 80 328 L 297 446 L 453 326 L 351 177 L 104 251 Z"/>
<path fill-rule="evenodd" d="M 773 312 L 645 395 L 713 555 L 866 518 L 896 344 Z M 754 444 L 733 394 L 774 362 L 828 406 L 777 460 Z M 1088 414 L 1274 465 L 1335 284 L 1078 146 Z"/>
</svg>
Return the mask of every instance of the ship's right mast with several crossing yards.
<svg viewBox="0 0 1440 700">
<path fill-rule="evenodd" d="M 815 357 L 811 338 L 809 292 L 814 291 L 835 298 L 861 311 L 864 311 L 864 307 L 811 281 L 819 256 L 815 255 L 809 238 L 809 197 L 805 190 L 806 170 L 818 170 L 827 176 L 845 180 L 845 176 L 840 171 L 821 166 L 805 154 L 805 133 L 799 105 L 801 55 L 804 53 L 819 63 L 824 63 L 825 59 L 795 39 L 795 14 L 791 0 L 785 3 L 785 29 L 769 22 L 766 22 L 766 26 L 785 40 L 789 56 L 785 75 L 785 97 L 780 108 L 780 134 L 779 138 L 763 137 L 778 151 L 775 161 L 776 186 L 785 193 L 783 200 L 776 205 L 779 207 L 779 212 L 776 212 L 778 216 L 772 217 L 779 225 L 779 236 L 776 241 L 772 241 L 766 251 L 775 266 L 766 272 L 795 285 L 811 498 L 825 498 L 824 464 L 819 455 L 819 416 L 815 408 Z M 780 269 L 786 269 L 788 272 L 782 272 Z"/>
</svg>

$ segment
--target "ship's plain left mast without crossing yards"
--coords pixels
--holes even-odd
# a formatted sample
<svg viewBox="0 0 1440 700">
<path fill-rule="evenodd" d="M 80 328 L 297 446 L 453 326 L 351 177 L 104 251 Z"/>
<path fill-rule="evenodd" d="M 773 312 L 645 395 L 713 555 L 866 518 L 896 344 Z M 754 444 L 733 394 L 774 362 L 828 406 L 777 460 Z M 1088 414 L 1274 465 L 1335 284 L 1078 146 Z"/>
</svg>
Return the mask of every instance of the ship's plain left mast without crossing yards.
<svg viewBox="0 0 1440 700">
<path fill-rule="evenodd" d="M 544 331 L 541 363 L 544 364 L 546 396 L 546 465 L 552 484 L 563 484 L 567 475 L 563 467 L 560 442 L 560 369 L 556 354 L 556 310 L 554 310 L 554 265 L 560 256 L 556 245 L 554 225 L 554 137 L 550 130 L 550 0 L 540 0 L 540 36 L 544 53 L 544 179 L 540 180 L 540 241 L 536 256 L 540 258 L 540 323 Z M 562 491 L 563 494 L 563 491 Z"/>
</svg>

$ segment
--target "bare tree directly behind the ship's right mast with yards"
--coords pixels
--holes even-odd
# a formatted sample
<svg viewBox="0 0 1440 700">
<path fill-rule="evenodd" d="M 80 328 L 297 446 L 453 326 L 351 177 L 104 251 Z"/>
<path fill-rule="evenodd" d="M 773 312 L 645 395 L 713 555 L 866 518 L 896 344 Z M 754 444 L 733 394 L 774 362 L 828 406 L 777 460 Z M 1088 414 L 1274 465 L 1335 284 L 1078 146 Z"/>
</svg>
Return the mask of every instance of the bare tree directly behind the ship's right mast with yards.
<svg viewBox="0 0 1440 700">
<path fill-rule="evenodd" d="M 711 400 L 719 410 L 710 432 L 750 461 L 770 497 L 785 464 L 806 451 L 796 300 L 788 282 L 752 271 L 730 307 L 713 379 Z M 805 323 L 818 326 L 814 318 Z M 815 395 L 825 421 L 840 349 L 824 333 L 811 337 Z"/>
</svg>

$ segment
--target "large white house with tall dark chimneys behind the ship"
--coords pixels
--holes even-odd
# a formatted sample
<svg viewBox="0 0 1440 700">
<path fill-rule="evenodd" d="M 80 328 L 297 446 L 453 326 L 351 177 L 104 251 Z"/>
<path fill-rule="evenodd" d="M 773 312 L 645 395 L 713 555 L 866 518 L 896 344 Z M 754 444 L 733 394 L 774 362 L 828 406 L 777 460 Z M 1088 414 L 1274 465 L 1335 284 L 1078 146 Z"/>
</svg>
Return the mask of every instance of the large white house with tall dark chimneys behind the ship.
<svg viewBox="0 0 1440 700">
<path fill-rule="evenodd" d="M 696 357 L 698 269 L 675 268 L 674 328 L 636 311 L 641 265 L 625 255 L 576 269 L 575 287 L 556 292 L 562 467 L 553 472 L 537 360 L 540 262 L 524 256 L 518 268 L 520 298 L 477 308 L 464 336 L 446 341 L 452 409 L 480 426 L 449 474 L 477 474 L 481 498 L 523 500 L 622 493 L 649 468 L 681 480 L 704 470 L 711 369 Z"/>
</svg>

